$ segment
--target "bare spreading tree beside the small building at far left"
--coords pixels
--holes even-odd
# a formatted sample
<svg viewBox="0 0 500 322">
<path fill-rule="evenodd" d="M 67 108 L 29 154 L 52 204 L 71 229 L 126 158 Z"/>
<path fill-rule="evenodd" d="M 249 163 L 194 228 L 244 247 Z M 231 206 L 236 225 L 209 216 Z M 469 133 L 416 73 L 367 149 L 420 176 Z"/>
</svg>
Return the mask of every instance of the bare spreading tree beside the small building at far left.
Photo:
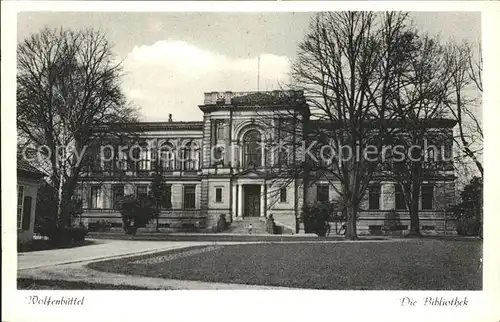
<svg viewBox="0 0 500 322">
<path fill-rule="evenodd" d="M 17 128 L 44 149 L 58 190 L 58 219 L 69 204 L 86 150 L 110 137 L 109 124 L 134 119 L 120 87 L 122 69 L 100 31 L 50 30 L 17 48 Z"/>
</svg>

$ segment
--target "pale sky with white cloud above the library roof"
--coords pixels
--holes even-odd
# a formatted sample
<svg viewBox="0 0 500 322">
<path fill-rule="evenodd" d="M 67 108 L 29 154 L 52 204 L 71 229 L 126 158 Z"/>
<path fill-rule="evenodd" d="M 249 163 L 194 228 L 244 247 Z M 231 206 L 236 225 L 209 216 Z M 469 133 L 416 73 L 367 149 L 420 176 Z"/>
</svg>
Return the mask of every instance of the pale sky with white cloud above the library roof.
<svg viewBox="0 0 500 322">
<path fill-rule="evenodd" d="M 296 50 L 314 13 L 22 12 L 18 42 L 44 27 L 106 32 L 123 61 L 123 90 L 145 121 L 202 119 L 211 91 L 255 91 L 289 81 Z M 415 26 L 442 39 L 477 43 L 478 12 L 412 12 Z"/>
</svg>

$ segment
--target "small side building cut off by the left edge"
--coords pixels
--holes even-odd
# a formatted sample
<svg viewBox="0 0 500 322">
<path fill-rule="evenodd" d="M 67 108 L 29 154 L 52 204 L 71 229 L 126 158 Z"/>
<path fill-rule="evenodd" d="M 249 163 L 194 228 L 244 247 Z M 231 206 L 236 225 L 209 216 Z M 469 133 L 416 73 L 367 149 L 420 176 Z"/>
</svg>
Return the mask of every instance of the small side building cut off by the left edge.
<svg viewBox="0 0 500 322">
<path fill-rule="evenodd" d="M 22 158 L 17 159 L 17 242 L 33 239 L 36 196 L 44 173 Z"/>
</svg>

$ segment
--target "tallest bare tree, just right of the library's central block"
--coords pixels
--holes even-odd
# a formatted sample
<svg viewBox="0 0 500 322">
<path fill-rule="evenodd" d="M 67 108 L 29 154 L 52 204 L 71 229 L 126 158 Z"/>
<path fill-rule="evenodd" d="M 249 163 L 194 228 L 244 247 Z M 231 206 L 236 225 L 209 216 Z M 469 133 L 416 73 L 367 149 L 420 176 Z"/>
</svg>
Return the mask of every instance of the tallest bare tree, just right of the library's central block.
<svg viewBox="0 0 500 322">
<path fill-rule="evenodd" d="M 354 153 L 299 165 L 304 178 L 312 174 L 331 182 L 347 215 L 348 239 L 357 239 L 357 211 L 377 168 L 356 152 L 372 145 L 380 153 L 392 131 L 389 124 L 398 117 L 388 103 L 412 51 L 408 23 L 405 13 L 319 13 L 292 66 L 295 86 L 305 91 L 311 106 L 310 114 L 301 116 L 304 137 L 331 146 L 336 156 L 344 148 Z"/>
</svg>

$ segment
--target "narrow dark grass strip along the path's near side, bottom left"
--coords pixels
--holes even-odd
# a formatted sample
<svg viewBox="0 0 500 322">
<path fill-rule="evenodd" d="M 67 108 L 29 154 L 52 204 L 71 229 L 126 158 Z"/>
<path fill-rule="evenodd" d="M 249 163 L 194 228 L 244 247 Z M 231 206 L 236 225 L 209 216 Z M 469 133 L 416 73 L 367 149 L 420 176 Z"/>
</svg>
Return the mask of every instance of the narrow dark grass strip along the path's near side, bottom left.
<svg viewBox="0 0 500 322">
<path fill-rule="evenodd" d="M 146 288 L 128 286 L 128 285 L 113 285 L 113 284 L 96 284 L 75 281 L 61 280 L 35 280 L 31 278 L 18 278 L 17 288 L 19 290 L 145 290 Z"/>
</svg>

